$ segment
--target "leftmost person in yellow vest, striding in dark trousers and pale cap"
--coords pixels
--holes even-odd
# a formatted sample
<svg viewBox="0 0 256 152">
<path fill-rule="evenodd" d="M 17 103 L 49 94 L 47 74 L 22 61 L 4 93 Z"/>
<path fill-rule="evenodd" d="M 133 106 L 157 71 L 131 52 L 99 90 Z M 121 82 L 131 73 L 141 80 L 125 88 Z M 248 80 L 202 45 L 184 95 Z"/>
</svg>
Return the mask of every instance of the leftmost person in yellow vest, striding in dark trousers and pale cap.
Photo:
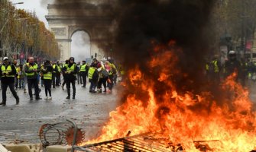
<svg viewBox="0 0 256 152">
<path fill-rule="evenodd" d="M 15 91 L 15 74 L 16 74 L 16 68 L 15 65 L 11 64 L 8 61 L 8 57 L 4 57 L 3 64 L 0 68 L 0 75 L 1 75 L 1 81 L 2 81 L 2 103 L 0 105 L 5 106 L 6 105 L 6 90 L 7 87 L 10 88 L 11 93 L 16 99 L 16 104 L 20 102 L 20 99 Z"/>
</svg>

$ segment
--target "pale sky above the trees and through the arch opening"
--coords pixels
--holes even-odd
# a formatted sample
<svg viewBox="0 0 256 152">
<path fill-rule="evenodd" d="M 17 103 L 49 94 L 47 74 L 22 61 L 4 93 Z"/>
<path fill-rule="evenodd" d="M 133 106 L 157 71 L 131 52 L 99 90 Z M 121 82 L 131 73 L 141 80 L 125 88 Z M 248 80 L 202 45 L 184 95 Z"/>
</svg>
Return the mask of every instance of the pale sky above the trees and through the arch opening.
<svg viewBox="0 0 256 152">
<path fill-rule="evenodd" d="M 24 2 L 24 4 L 15 5 L 16 8 L 24 9 L 26 11 L 35 11 L 40 21 L 49 28 L 45 15 L 48 14 L 47 3 L 53 3 L 53 0 L 11 0 L 12 3 Z M 81 62 L 86 58 L 90 58 L 89 51 L 89 36 L 83 31 L 73 34 L 71 43 L 71 55 L 76 62 Z"/>
</svg>

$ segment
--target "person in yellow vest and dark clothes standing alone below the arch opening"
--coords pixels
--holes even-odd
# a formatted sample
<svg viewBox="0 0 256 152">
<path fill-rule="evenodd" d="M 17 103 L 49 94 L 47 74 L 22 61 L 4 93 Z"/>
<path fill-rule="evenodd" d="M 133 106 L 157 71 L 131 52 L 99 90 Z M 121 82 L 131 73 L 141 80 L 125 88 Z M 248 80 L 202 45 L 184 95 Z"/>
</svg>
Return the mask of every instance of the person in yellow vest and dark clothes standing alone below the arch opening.
<svg viewBox="0 0 256 152">
<path fill-rule="evenodd" d="M 75 63 L 75 59 L 70 57 L 70 61 L 66 64 L 63 68 L 63 73 L 65 73 L 66 79 L 66 90 L 67 90 L 67 97 L 66 99 L 70 99 L 70 84 L 73 87 L 73 99 L 76 98 L 76 74 L 77 74 L 77 67 Z"/>
</svg>

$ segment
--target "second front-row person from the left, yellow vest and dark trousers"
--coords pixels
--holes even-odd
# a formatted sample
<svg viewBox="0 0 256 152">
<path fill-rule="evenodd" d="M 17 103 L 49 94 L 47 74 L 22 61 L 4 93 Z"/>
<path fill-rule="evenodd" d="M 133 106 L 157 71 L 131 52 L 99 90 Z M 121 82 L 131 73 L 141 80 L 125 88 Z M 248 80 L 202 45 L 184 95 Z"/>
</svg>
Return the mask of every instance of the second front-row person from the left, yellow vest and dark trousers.
<svg viewBox="0 0 256 152">
<path fill-rule="evenodd" d="M 34 86 L 34 93 L 36 95 L 36 100 L 41 100 L 42 98 L 39 97 L 39 87 L 37 81 L 37 75 L 40 72 L 37 64 L 34 62 L 33 57 L 28 58 L 28 63 L 25 65 L 25 73 L 28 80 L 28 93 L 30 96 L 30 100 L 33 100 L 32 94 L 32 86 Z"/>
</svg>

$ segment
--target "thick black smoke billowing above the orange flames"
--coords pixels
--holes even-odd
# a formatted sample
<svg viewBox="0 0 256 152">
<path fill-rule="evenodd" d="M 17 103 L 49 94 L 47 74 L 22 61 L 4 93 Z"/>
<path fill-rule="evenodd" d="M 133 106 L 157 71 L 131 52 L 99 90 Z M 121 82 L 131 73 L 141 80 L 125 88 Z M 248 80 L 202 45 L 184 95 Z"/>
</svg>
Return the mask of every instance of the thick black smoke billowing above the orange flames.
<svg viewBox="0 0 256 152">
<path fill-rule="evenodd" d="M 67 4 L 63 0 L 55 0 L 56 4 L 63 5 L 62 11 L 66 14 L 83 16 L 87 13 L 86 5 L 89 5 L 92 8 L 98 7 L 97 15 L 112 16 L 113 22 L 109 24 L 108 31 L 104 28 L 99 33 L 113 36 L 109 37 L 109 43 L 114 48 L 112 53 L 115 59 L 122 61 L 128 69 L 138 66 L 151 80 L 157 81 L 157 72 L 160 72 L 156 70 L 152 73 L 148 69 L 152 48 L 155 44 L 167 45 L 170 40 L 174 40 L 177 48 L 182 48 L 183 51 L 175 52 L 180 72 L 173 74 L 171 81 L 183 93 L 199 93 L 203 90 L 206 83 L 203 80 L 204 59 L 209 54 L 211 42 L 211 37 L 206 34 L 209 32 L 207 23 L 214 5 L 213 0 L 119 0 L 108 6 L 111 10 L 109 12 L 104 11 L 101 1 L 66 2 Z M 70 8 L 76 8 L 77 11 Z M 99 43 L 99 47 L 105 49 L 102 43 Z M 171 59 L 167 61 L 171 62 Z M 170 89 L 161 82 L 156 85 L 157 90 L 154 91 L 159 97 Z M 134 88 L 128 88 L 127 93 L 131 90 Z"/>
</svg>

